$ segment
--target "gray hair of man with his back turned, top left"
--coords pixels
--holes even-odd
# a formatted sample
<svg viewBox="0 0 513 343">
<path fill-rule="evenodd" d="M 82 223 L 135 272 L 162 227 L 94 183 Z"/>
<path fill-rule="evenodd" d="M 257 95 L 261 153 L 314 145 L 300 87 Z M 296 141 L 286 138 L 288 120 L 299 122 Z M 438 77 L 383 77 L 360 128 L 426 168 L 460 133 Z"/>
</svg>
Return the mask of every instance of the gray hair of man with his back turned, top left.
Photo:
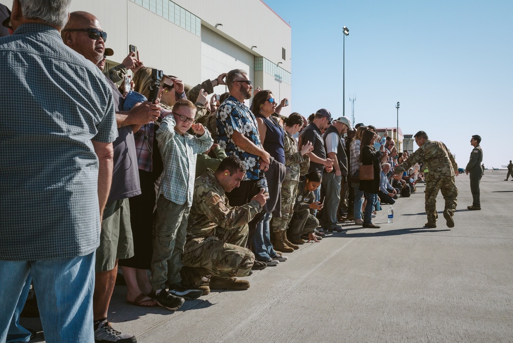
<svg viewBox="0 0 513 343">
<path fill-rule="evenodd" d="M 25 18 L 62 29 L 68 21 L 71 0 L 19 0 L 19 4 Z"/>
</svg>

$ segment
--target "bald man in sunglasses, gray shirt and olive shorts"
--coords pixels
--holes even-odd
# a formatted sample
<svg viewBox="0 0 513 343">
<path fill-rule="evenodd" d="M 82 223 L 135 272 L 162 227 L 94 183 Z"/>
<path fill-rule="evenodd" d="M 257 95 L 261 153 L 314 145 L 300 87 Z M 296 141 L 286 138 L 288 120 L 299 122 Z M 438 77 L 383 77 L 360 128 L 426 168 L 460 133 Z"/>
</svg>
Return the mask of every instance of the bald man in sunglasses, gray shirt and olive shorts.
<svg viewBox="0 0 513 343">
<path fill-rule="evenodd" d="M 100 22 L 94 15 L 83 11 L 70 13 L 62 36 L 67 46 L 96 64 L 101 70 L 103 69 L 107 33 L 102 31 Z M 141 194 L 139 170 L 137 164 L 133 163 L 137 160 L 133 132 L 139 130 L 141 125 L 158 119 L 161 107 L 146 102 L 124 112 L 124 99 L 119 89 L 108 77 L 104 77 L 104 80 L 109 84 L 113 93 L 112 100 L 116 108 L 119 137 L 113 142 L 112 186 L 105 205 L 100 247 L 96 250 L 93 298 L 94 335 L 97 341 L 132 343 L 136 341 L 135 337 L 114 330 L 107 321 L 107 313 L 114 291 L 117 262 L 120 258 L 133 256 L 128 198 Z M 133 303 L 135 297 L 137 295 L 128 295 L 127 301 Z M 140 299 L 139 302 L 155 305 L 155 302 L 149 297 Z"/>
</svg>

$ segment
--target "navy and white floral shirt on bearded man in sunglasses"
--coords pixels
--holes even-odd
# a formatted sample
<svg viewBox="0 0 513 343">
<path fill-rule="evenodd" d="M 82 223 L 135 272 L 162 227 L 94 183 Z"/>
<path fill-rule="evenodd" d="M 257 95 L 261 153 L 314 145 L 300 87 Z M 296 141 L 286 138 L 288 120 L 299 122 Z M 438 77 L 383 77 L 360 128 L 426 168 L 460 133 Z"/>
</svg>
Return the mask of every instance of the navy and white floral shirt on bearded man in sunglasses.
<svg viewBox="0 0 513 343">
<path fill-rule="evenodd" d="M 219 146 L 225 149 L 226 155 L 240 158 L 246 166 L 244 180 L 257 180 L 260 176 L 259 157 L 238 147 L 231 138 L 233 132 L 237 131 L 255 145 L 262 147 L 257 119 L 253 113 L 246 105 L 229 96 L 219 107 L 216 126 Z"/>
</svg>

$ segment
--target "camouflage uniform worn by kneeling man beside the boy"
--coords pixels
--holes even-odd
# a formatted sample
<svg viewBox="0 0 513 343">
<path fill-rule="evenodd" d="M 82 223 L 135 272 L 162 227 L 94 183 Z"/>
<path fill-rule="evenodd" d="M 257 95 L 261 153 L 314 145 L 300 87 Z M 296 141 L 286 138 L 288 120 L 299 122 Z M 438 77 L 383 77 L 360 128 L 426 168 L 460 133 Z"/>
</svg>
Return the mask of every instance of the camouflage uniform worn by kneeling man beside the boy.
<svg viewBox="0 0 513 343">
<path fill-rule="evenodd" d="M 224 189 L 212 170 L 194 182 L 194 196 L 187 225 L 187 242 L 182 255 L 185 272 L 200 276 L 247 276 L 254 255 L 246 249 L 248 222 L 262 211 L 253 200 L 230 207 Z M 184 273 L 182 273 L 184 275 Z M 196 278 L 197 279 L 197 278 Z M 186 277 L 190 282 L 190 276 Z"/>
</svg>

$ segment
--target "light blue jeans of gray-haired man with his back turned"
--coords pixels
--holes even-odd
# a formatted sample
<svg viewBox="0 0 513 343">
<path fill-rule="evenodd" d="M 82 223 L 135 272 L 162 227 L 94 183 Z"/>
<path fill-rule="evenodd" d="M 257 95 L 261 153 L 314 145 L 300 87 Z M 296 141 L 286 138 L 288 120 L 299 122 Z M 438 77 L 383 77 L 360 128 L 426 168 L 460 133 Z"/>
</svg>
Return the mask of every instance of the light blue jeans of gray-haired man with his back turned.
<svg viewBox="0 0 513 343">
<path fill-rule="evenodd" d="M 47 342 L 94 342 L 94 252 L 37 261 L 0 261 L 0 342 L 7 339 L 18 300 L 32 276 Z"/>
</svg>

